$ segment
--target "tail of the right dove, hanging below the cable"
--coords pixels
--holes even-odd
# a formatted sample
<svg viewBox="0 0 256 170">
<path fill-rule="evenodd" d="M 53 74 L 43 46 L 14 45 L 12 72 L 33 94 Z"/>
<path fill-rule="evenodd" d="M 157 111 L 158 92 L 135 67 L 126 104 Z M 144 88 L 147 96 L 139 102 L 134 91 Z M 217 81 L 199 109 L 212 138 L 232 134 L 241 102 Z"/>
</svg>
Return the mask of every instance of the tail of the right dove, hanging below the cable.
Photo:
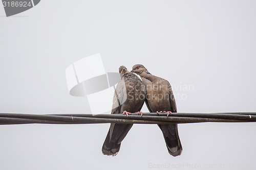
<svg viewBox="0 0 256 170">
<path fill-rule="evenodd" d="M 158 125 L 163 132 L 166 147 L 170 155 L 179 156 L 182 152 L 182 145 L 178 134 L 178 125 Z"/>
</svg>

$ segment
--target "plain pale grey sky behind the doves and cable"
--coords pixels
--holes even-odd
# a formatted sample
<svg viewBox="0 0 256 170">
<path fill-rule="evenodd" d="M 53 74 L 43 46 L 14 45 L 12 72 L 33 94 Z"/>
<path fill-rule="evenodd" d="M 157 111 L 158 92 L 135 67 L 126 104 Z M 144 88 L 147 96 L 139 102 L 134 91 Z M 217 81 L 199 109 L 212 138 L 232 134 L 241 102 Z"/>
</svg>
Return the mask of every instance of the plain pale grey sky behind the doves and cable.
<svg viewBox="0 0 256 170">
<path fill-rule="evenodd" d="M 0 112 L 89 113 L 65 69 L 97 53 L 107 72 L 141 63 L 173 87 L 193 85 L 174 89 L 187 96 L 179 112 L 256 111 L 255 1 L 44 0 L 8 18 L 0 5 L 0 15 Z M 156 125 L 134 125 L 108 157 L 109 124 L 0 126 L 0 169 L 255 169 L 255 128 L 179 125 L 183 153 L 172 157 Z"/>
</svg>

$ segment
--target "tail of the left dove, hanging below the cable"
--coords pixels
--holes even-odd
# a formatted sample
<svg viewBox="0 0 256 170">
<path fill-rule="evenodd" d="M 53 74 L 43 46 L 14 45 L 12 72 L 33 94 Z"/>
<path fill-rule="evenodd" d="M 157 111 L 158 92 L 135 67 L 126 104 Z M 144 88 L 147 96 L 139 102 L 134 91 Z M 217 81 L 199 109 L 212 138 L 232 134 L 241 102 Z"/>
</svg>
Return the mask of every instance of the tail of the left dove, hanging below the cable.
<svg viewBox="0 0 256 170">
<path fill-rule="evenodd" d="M 102 146 L 102 153 L 104 155 L 116 156 L 120 150 L 121 141 L 124 139 L 132 126 L 133 124 L 115 124 L 112 136 L 110 136 L 110 128 Z"/>
</svg>

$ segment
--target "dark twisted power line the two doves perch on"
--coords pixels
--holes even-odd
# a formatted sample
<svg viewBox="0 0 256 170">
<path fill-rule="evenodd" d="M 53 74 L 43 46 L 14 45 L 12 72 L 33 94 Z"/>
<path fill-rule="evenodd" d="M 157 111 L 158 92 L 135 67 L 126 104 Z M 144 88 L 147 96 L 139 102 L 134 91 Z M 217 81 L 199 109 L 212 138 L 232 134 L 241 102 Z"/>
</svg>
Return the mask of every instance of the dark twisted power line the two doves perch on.
<svg viewBox="0 0 256 170">
<path fill-rule="evenodd" d="M 232 113 L 132 113 L 123 114 L 21 114 L 0 113 L 0 125 L 16 124 L 187 124 L 205 122 L 256 122 L 255 112 Z"/>
</svg>

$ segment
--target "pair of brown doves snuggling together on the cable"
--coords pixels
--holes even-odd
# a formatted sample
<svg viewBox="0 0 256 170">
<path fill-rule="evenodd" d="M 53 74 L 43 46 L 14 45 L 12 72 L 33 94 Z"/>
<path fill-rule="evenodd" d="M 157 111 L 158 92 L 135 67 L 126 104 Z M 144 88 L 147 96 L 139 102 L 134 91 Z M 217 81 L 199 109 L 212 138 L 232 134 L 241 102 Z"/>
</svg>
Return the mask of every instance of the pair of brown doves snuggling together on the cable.
<svg viewBox="0 0 256 170">
<path fill-rule="evenodd" d="M 142 81 L 133 72 L 138 74 Z M 116 86 L 111 114 L 123 113 L 128 116 L 136 112 L 142 115 L 140 110 L 144 102 L 150 112 L 167 112 L 167 116 L 169 113 L 177 112 L 174 94 L 167 80 L 150 74 L 141 64 L 134 65 L 131 72 L 125 66 L 120 66 L 119 73 L 121 81 Z M 125 95 L 131 98 L 123 99 Z M 141 98 L 141 95 L 144 98 Z M 133 124 L 112 123 L 103 143 L 102 153 L 115 156 L 120 150 L 121 141 L 132 126 Z M 169 154 L 180 155 L 182 146 L 177 124 L 158 126 L 163 133 Z"/>
</svg>

